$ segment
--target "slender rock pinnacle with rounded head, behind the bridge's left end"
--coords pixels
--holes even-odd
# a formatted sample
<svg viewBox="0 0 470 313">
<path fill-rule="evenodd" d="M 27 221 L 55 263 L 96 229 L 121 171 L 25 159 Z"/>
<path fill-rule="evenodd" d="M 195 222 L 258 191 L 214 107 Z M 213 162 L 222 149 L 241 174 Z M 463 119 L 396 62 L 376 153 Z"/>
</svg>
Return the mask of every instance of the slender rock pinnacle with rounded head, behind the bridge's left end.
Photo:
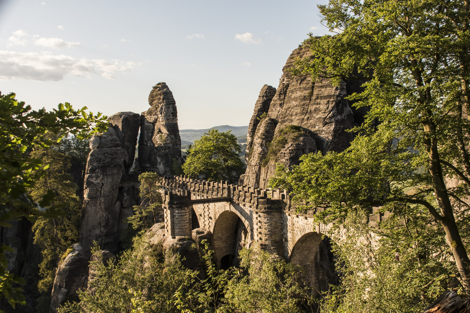
<svg viewBox="0 0 470 313">
<path fill-rule="evenodd" d="M 141 115 L 139 165 L 144 172 L 171 174 L 173 159 L 181 163 L 181 138 L 173 93 L 165 83 L 149 95 L 150 108 Z"/>
</svg>

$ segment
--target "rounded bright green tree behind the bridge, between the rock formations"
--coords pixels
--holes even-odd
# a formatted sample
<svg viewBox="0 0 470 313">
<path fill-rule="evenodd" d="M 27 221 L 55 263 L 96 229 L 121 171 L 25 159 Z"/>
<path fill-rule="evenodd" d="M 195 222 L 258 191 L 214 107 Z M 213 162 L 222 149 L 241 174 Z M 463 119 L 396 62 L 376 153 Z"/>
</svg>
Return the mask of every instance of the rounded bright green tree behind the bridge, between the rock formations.
<svg viewBox="0 0 470 313">
<path fill-rule="evenodd" d="M 188 149 L 186 163 L 182 168 L 186 175 L 203 179 L 234 183 L 244 171 L 238 153 L 241 152 L 237 138 L 231 130 L 209 130 Z"/>
</svg>

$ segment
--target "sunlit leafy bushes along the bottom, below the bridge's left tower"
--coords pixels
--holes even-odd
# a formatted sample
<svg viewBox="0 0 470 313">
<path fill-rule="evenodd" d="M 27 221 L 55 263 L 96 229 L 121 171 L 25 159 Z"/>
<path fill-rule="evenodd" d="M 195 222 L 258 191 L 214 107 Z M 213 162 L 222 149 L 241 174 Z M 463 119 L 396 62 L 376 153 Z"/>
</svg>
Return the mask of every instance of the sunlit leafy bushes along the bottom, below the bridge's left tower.
<svg viewBox="0 0 470 313">
<path fill-rule="evenodd" d="M 99 250 L 94 248 L 93 251 Z M 161 246 L 136 237 L 117 265 L 91 262 L 96 278 L 79 293 L 80 302 L 67 303 L 60 313 L 180 313 L 219 312 L 229 272 L 211 263 L 212 252 L 201 251 L 205 277 L 184 269 L 180 258 L 166 256 Z"/>
</svg>

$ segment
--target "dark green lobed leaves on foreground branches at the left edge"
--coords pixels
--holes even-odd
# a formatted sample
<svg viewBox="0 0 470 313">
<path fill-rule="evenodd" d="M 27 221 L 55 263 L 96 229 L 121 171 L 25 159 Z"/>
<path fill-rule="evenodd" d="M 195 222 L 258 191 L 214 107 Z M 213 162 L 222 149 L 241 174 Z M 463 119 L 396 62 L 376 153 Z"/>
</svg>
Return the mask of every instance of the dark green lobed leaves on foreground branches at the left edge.
<svg viewBox="0 0 470 313">
<path fill-rule="evenodd" d="M 55 193 L 51 190 L 40 195 L 37 200 L 27 195 L 36 182 L 47 175 L 47 166 L 40 159 L 29 156 L 31 150 L 47 149 L 53 140 L 47 133 L 76 135 L 83 139 L 94 132 L 106 129 L 105 116 L 100 113 L 86 113 L 86 107 L 74 110 L 69 103 L 59 104 L 57 109 L 47 112 L 45 109 L 31 110 L 24 102 L 18 102 L 15 94 L 0 93 L 0 225 L 11 227 L 8 221 L 25 217 L 34 221 L 36 217 L 56 217 L 63 204 L 51 205 Z M 91 129 L 94 127 L 94 130 Z M 60 140 L 59 137 L 57 140 Z M 8 246 L 0 248 L 0 294 L 12 306 L 24 304 L 21 289 L 14 284 L 24 280 L 11 275 L 7 270 L 5 251 L 12 251 Z"/>
</svg>

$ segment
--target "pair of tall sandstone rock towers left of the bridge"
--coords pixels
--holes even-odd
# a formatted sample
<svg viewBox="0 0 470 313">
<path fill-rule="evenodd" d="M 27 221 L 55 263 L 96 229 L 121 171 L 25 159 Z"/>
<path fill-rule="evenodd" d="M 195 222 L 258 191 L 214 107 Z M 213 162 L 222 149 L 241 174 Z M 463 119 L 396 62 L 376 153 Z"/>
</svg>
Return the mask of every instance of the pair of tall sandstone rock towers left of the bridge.
<svg viewBox="0 0 470 313">
<path fill-rule="evenodd" d="M 102 249 L 118 252 L 125 220 L 140 201 L 139 171 L 170 175 L 173 161 L 181 163 L 176 103 L 165 83 L 153 87 L 149 104 L 142 115 L 111 116 L 108 130 L 90 140 L 80 227 L 80 243 L 89 257 L 94 241 Z M 139 130 L 139 157 L 134 162 Z M 133 166 L 137 171 L 132 171 Z"/>
</svg>

